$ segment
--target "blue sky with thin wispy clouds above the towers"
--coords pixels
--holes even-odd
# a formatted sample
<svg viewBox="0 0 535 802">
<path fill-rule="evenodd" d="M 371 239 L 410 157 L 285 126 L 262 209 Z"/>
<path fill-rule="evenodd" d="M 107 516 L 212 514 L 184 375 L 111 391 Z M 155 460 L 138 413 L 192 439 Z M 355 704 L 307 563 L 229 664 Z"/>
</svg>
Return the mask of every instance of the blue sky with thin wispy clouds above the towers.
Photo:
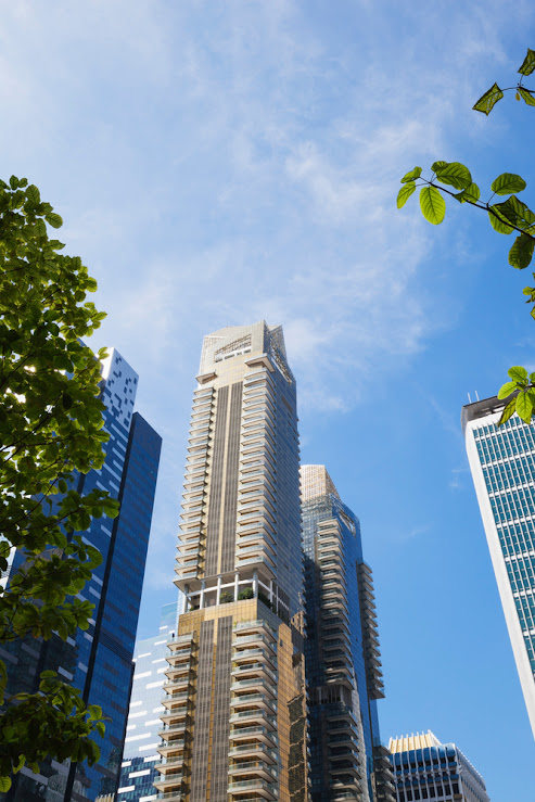
<svg viewBox="0 0 535 802">
<path fill-rule="evenodd" d="M 457 742 L 493 802 L 533 797 L 533 739 L 459 419 L 535 369 L 530 277 L 483 215 L 448 204 L 435 228 L 395 198 L 444 158 L 520 173 L 534 202 L 533 110 L 471 111 L 534 27 L 523 0 L 12 0 L 0 22 L 2 176 L 64 217 L 109 313 L 94 347 L 140 373 L 164 437 L 140 636 L 174 598 L 202 336 L 282 323 L 303 459 L 374 570 L 382 735 Z"/>
</svg>

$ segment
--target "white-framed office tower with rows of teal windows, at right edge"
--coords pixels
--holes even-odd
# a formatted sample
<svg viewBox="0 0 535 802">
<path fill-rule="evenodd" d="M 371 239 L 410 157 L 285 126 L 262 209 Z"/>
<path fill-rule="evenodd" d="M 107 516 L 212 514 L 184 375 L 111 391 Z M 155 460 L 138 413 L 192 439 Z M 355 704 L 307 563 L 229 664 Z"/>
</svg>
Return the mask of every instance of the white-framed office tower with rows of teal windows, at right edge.
<svg viewBox="0 0 535 802">
<path fill-rule="evenodd" d="M 497 427 L 506 402 L 462 408 L 462 430 L 509 638 L 535 736 L 535 425 Z"/>
</svg>

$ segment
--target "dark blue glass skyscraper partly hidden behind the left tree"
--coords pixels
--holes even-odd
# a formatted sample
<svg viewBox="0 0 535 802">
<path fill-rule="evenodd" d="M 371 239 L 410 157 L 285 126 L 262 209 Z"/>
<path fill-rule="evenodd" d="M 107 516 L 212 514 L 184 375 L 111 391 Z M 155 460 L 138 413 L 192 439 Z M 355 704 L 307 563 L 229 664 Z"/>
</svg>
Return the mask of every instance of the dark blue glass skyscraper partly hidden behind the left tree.
<svg viewBox="0 0 535 802">
<path fill-rule="evenodd" d="M 92 767 L 48 761 L 38 775 L 23 768 L 3 797 L 10 802 L 87 802 L 115 793 L 117 787 L 162 445 L 160 435 L 133 411 L 137 386 L 137 373 L 111 349 L 102 364 L 104 428 L 110 434 L 105 461 L 101 470 L 77 479 L 79 493 L 99 487 L 120 501 L 116 519 L 95 519 L 82 533 L 84 540 L 103 557 L 78 596 L 94 604 L 89 628 L 66 642 L 58 636 L 48 641 L 25 638 L 2 649 L 8 696 L 35 692 L 41 671 L 52 670 L 79 688 L 87 703 L 102 706 L 110 721 L 103 741 L 95 737 L 101 756 Z M 21 552 L 14 555 L 10 575 L 24 559 Z"/>
</svg>

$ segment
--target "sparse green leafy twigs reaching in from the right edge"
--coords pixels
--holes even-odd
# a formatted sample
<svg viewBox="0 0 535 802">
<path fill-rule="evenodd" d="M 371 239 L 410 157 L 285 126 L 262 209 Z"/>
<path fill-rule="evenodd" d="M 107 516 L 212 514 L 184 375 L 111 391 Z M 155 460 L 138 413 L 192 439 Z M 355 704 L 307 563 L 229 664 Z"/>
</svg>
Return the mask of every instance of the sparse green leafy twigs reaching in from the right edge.
<svg viewBox="0 0 535 802">
<path fill-rule="evenodd" d="M 519 67 L 520 79 L 514 87 L 500 89 L 494 84 L 474 104 L 476 112 L 487 116 L 505 92 L 514 90 L 517 100 L 523 100 L 528 106 L 535 106 L 535 89 L 523 86 L 526 76 L 535 71 L 535 51 L 527 50 L 526 56 Z M 458 203 L 468 203 L 471 207 L 483 211 L 488 216 L 492 228 L 500 234 L 515 233 L 514 242 L 509 250 L 509 264 L 518 270 L 524 270 L 532 263 L 535 250 L 535 213 L 518 198 L 526 182 L 513 173 L 501 173 L 491 184 L 487 201 L 481 200 L 481 189 L 472 180 L 469 168 L 459 162 L 434 162 L 431 165 L 431 177 L 422 177 L 422 168 L 415 167 L 402 178 L 402 189 L 397 194 L 397 208 L 402 208 L 408 199 L 420 188 L 420 208 L 425 219 L 438 225 L 446 215 L 445 195 Z M 451 188 L 451 189 L 449 189 Z M 454 191 L 457 190 L 457 191 Z M 506 200 L 498 198 L 508 195 Z M 496 199 L 496 200 L 495 200 Z M 535 272 L 533 273 L 535 279 Z M 527 304 L 533 304 L 531 315 L 535 318 L 535 288 L 526 287 L 523 291 Z M 530 423 L 535 417 L 535 373 L 527 373 L 525 368 L 513 367 L 509 371 L 510 381 L 506 382 L 498 398 L 509 398 L 498 425 L 505 423 L 517 412 L 522 420 Z"/>
</svg>

